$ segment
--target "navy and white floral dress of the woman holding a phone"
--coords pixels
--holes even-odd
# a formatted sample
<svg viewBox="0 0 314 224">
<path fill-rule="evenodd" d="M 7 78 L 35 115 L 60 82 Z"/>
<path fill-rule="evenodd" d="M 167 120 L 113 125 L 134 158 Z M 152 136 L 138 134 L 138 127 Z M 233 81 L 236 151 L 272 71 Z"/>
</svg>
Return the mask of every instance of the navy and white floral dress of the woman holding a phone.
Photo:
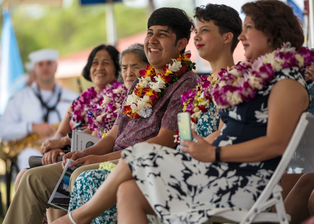
<svg viewBox="0 0 314 224">
<path fill-rule="evenodd" d="M 306 88 L 297 67 L 282 69 L 274 77 L 254 99 L 219 113 L 225 125 L 213 145 L 227 146 L 265 136 L 268 97 L 275 83 L 293 79 Z M 217 212 L 216 208 L 249 209 L 281 158 L 256 163 L 203 163 L 147 142 L 128 147 L 122 156 L 157 216 L 169 224 L 204 223 Z"/>
</svg>

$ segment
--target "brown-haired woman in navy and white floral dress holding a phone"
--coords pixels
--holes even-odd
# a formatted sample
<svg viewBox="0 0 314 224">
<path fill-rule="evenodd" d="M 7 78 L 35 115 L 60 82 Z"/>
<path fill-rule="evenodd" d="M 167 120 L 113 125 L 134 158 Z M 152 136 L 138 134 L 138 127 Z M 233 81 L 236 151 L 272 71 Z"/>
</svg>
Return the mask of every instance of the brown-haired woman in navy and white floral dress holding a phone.
<svg viewBox="0 0 314 224">
<path fill-rule="evenodd" d="M 125 149 L 94 197 L 58 223 L 89 223 L 116 202 L 118 223 L 146 223 L 146 214 L 204 223 L 216 208 L 253 205 L 308 108 L 303 74 L 314 53 L 302 47 L 302 28 L 285 3 L 261 0 L 242 10 L 246 60 L 210 88 L 224 123 L 220 136 L 194 133 L 198 142 L 182 140 L 187 154 L 146 142 Z M 196 27 L 198 34 L 206 28 Z"/>
</svg>

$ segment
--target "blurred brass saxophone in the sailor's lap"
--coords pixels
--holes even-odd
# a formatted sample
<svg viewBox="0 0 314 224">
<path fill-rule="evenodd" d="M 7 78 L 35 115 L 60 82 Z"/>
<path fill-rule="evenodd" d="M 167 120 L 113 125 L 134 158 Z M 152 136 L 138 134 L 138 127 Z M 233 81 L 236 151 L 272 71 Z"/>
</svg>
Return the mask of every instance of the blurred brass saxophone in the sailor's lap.
<svg viewBox="0 0 314 224">
<path fill-rule="evenodd" d="M 59 124 L 60 123 L 54 125 L 56 130 Z M 24 148 L 35 148 L 42 152 L 41 144 L 44 141 L 44 138 L 35 133 L 28 134 L 25 138 L 20 140 L 2 141 L 0 138 L 0 158 L 4 161 L 7 161 L 7 159 L 14 160 Z"/>
</svg>

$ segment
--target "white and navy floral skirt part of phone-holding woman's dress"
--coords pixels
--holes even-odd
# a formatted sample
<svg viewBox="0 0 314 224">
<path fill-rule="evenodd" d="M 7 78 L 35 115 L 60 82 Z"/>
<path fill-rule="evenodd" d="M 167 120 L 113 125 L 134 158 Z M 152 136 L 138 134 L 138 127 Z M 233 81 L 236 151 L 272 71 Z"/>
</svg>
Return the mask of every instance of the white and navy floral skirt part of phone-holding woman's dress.
<svg viewBox="0 0 314 224">
<path fill-rule="evenodd" d="M 157 216 L 171 224 L 204 223 L 216 208 L 249 209 L 273 173 L 263 162 L 203 163 L 147 142 L 122 156 Z"/>
</svg>

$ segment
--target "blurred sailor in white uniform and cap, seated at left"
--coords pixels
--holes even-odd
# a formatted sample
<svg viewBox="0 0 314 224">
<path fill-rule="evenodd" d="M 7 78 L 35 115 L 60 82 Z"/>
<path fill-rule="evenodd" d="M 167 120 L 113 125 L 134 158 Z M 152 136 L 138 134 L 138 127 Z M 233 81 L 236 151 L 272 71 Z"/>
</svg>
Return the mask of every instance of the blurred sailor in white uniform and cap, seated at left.
<svg viewBox="0 0 314 224">
<path fill-rule="evenodd" d="M 42 155 L 41 142 L 55 134 L 68 105 L 78 96 L 55 82 L 58 55 L 59 52 L 52 49 L 30 53 L 35 81 L 14 94 L 0 118 L 3 141 L 21 140 L 28 136 L 34 140 L 28 144 L 31 147 L 24 148 L 17 155 L 19 170 L 29 167 L 30 156 Z"/>
</svg>

